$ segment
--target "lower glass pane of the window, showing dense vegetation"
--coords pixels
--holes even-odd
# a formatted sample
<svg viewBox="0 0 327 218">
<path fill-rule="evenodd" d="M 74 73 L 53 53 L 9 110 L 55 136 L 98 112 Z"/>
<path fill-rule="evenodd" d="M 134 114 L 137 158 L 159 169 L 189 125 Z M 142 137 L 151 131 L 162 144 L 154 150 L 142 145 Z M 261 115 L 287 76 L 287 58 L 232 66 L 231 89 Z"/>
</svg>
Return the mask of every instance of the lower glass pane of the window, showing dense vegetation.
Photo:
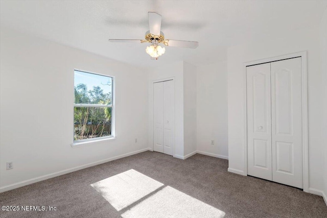
<svg viewBox="0 0 327 218">
<path fill-rule="evenodd" d="M 74 141 L 111 135 L 111 108 L 74 107 Z"/>
</svg>

